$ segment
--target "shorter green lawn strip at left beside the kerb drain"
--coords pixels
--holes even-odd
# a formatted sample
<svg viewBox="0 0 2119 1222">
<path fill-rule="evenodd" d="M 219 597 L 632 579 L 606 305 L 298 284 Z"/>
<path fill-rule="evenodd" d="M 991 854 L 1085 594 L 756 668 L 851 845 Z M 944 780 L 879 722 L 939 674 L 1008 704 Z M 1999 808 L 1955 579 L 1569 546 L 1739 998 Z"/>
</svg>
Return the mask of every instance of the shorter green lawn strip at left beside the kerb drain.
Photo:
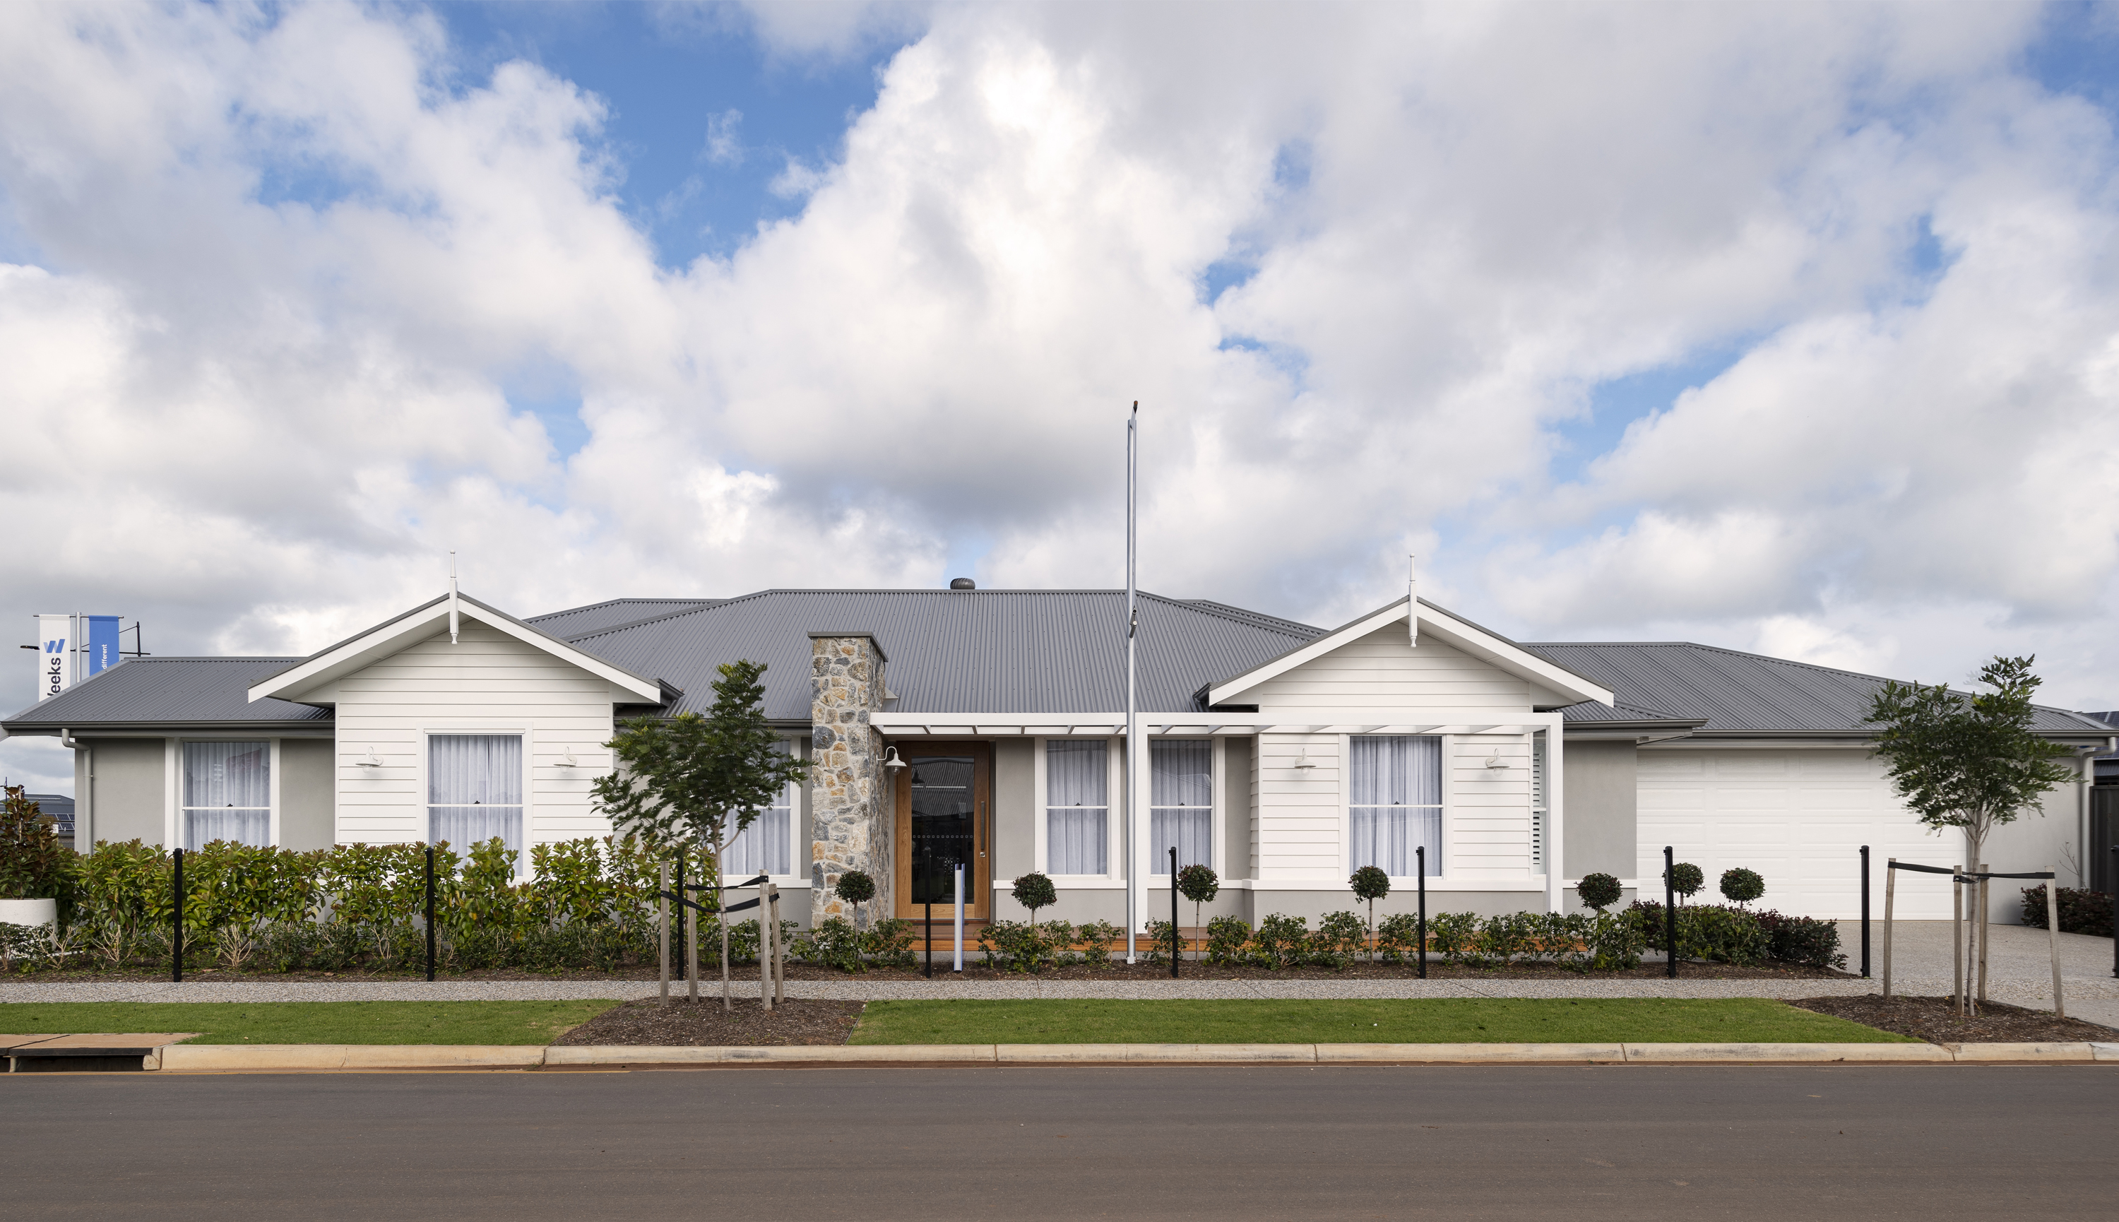
<svg viewBox="0 0 2119 1222">
<path fill-rule="evenodd" d="M 11 1002 L 0 1031 L 203 1031 L 191 1044 L 549 1044 L 617 1002 Z"/>
</svg>

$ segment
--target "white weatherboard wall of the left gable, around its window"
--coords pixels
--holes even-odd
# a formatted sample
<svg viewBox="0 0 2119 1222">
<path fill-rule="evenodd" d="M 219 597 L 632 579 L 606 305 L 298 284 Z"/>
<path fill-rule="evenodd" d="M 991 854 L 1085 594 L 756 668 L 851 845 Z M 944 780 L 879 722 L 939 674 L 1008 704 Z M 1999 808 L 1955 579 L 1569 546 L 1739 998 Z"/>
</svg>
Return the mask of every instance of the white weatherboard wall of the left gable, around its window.
<svg viewBox="0 0 2119 1222">
<path fill-rule="evenodd" d="M 320 697 L 337 701 L 339 843 L 422 839 L 430 733 L 523 735 L 526 845 L 610 834 L 589 807 L 589 786 L 610 767 L 615 697 L 572 663 L 466 616 L 458 644 L 437 633 Z M 369 750 L 384 767 L 360 767 Z M 562 767 L 566 752 L 578 767 Z"/>
</svg>

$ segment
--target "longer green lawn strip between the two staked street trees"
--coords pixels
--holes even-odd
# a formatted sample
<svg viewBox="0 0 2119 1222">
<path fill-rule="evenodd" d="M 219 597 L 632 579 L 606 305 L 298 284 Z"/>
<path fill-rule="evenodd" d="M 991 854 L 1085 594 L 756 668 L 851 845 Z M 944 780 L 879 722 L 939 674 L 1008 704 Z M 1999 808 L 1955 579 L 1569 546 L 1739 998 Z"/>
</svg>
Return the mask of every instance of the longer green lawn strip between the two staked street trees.
<svg viewBox="0 0 2119 1222">
<path fill-rule="evenodd" d="M 854 1044 L 1886 1044 L 1765 1000 L 871 1002 Z"/>
</svg>

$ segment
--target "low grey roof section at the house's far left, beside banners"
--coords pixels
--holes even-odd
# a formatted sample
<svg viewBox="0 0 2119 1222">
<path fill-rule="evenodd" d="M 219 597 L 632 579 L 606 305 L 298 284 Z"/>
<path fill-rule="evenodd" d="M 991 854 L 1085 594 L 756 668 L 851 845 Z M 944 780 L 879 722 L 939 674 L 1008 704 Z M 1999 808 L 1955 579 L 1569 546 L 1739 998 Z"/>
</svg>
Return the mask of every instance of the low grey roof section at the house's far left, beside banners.
<svg viewBox="0 0 2119 1222">
<path fill-rule="evenodd" d="M 250 684 L 301 659 L 127 659 L 0 722 L 11 735 L 91 726 L 331 724 L 331 709 L 252 701 Z"/>
</svg>

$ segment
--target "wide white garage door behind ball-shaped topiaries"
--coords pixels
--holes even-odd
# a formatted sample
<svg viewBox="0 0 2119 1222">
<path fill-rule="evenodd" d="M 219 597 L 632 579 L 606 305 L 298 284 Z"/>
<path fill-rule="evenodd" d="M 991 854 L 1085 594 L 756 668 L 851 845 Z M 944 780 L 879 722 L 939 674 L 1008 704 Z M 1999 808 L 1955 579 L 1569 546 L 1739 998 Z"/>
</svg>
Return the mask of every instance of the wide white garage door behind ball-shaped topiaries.
<svg viewBox="0 0 2119 1222">
<path fill-rule="evenodd" d="M 1723 870 L 1765 879 L 1759 906 L 1801 917 L 1860 917 L 1860 845 L 1871 858 L 1871 917 L 1884 919 L 1884 862 L 1954 866 L 1962 832 L 1937 834 L 1899 803 L 1886 765 L 1865 750 L 1640 752 L 1638 879 L 1663 894 L 1663 845 L 1706 875 L 1695 902 L 1723 902 Z M 1949 881 L 1899 877 L 1897 915 L 1949 919 Z"/>
</svg>

